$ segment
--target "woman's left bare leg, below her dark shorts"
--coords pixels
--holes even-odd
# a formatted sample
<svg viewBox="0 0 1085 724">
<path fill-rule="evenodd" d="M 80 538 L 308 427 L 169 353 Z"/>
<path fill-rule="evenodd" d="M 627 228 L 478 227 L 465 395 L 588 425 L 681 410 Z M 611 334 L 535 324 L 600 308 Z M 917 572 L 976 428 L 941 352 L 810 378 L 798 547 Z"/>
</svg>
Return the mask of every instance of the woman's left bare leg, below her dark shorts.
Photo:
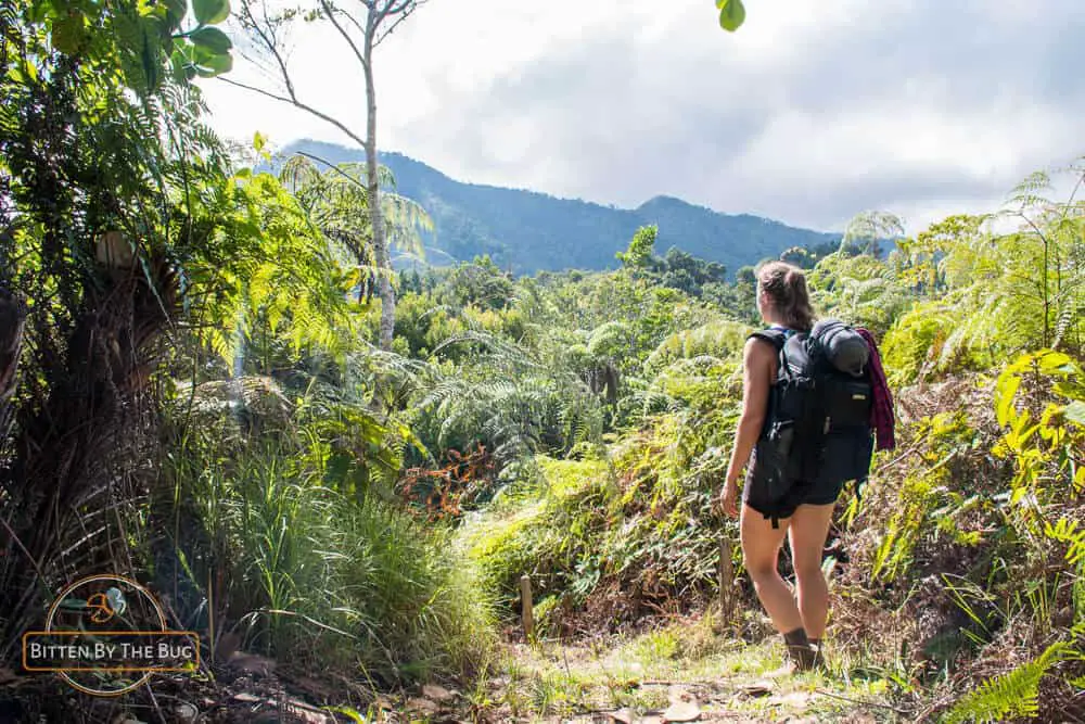
<svg viewBox="0 0 1085 724">
<path fill-rule="evenodd" d="M 770 520 L 753 508 L 742 506 L 740 530 L 745 569 L 753 579 L 757 598 L 773 619 L 773 625 L 781 634 L 787 634 L 802 628 L 803 619 L 791 588 L 776 568 L 780 546 L 788 532 L 788 521 L 781 520 L 779 524 L 779 528 L 774 529 Z"/>
</svg>

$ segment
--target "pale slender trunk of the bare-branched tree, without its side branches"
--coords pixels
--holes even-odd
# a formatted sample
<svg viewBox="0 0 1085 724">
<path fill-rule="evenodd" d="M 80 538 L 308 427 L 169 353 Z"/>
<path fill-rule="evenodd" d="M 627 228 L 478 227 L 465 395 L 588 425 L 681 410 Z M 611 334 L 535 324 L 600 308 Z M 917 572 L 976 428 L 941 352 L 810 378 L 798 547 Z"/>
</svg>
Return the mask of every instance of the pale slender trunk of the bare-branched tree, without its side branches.
<svg viewBox="0 0 1085 724">
<path fill-rule="evenodd" d="M 366 25 L 366 182 L 369 191 L 369 219 L 373 227 L 373 253 L 376 256 L 376 283 L 381 295 L 381 348 L 392 348 L 396 325 L 396 293 L 392 289 L 392 262 L 388 255 L 384 213 L 381 208 L 381 185 L 376 178 L 376 87 L 373 82 L 373 39 L 376 14 L 371 10 Z"/>
</svg>

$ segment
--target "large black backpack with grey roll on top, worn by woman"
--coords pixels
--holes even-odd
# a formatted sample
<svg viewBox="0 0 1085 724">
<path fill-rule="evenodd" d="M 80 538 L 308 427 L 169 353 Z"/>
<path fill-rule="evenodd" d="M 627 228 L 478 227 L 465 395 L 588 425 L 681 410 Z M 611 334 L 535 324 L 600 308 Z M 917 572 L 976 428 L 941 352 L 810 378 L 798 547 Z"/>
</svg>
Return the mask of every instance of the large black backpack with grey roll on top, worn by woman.
<svg viewBox="0 0 1085 724">
<path fill-rule="evenodd" d="M 777 526 L 802 485 L 863 481 L 873 454 L 866 339 L 838 319 L 807 334 L 754 332 L 776 347 L 778 371 L 746 484 L 746 503 Z"/>
</svg>

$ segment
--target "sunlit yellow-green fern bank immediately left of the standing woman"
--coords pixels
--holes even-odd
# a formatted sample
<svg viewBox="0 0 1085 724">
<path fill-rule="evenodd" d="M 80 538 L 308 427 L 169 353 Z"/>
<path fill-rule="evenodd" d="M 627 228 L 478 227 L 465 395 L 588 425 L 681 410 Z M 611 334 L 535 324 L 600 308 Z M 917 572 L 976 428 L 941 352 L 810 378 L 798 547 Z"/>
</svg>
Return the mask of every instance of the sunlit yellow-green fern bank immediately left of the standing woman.
<svg viewBox="0 0 1085 724">
<path fill-rule="evenodd" d="M 714 585 L 717 523 L 711 499 L 726 463 L 720 450 L 736 410 L 720 410 L 732 369 L 709 372 L 699 392 L 680 404 L 688 412 L 651 418 L 648 432 L 626 435 L 607 459 L 540 462 L 540 481 L 525 481 L 520 503 L 468 524 L 464 535 L 489 585 L 511 602 L 523 573 L 553 611 L 587 606 L 609 592 L 656 606 L 704 594 Z M 668 392 L 697 385 L 676 374 Z M 732 398 L 733 399 L 733 398 Z M 610 623 L 637 614 L 614 610 Z M 551 621 L 553 625 L 557 622 Z"/>
</svg>

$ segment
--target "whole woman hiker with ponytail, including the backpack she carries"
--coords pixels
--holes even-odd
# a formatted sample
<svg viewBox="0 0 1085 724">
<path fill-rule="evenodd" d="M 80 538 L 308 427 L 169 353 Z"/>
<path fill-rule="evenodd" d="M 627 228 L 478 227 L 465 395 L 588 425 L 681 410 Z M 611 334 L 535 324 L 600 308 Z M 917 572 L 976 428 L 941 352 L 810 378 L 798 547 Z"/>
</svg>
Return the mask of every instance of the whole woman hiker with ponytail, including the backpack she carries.
<svg viewBox="0 0 1085 724">
<path fill-rule="evenodd" d="M 779 435 L 781 440 L 784 439 L 783 432 L 789 432 L 793 436 L 793 440 L 787 437 L 786 452 L 780 453 L 776 460 L 757 459 L 755 450 L 764 458 L 773 457 L 770 453 L 774 448 L 763 447 L 758 441 L 766 440 L 768 428 L 766 420 L 771 411 L 770 406 L 774 404 L 774 396 L 778 403 L 781 392 L 778 386 L 774 386 L 778 382 L 780 371 L 780 353 L 788 339 L 800 334 L 802 336 L 795 340 L 800 342 L 809 335 L 815 328 L 815 318 L 802 269 L 783 262 L 770 262 L 757 269 L 756 278 L 757 309 L 769 327 L 752 334 L 743 350 L 742 416 L 736 429 L 735 446 L 719 504 L 726 515 L 732 518 L 740 516 L 739 475 L 746 467 L 746 462 L 751 461 L 751 453 L 754 453 L 750 469 L 746 471 L 742 494 L 740 519 L 742 556 L 757 592 L 757 598 L 771 618 L 776 630 L 783 635 L 791 664 L 799 670 L 808 670 L 821 664 L 820 643 L 829 608 L 829 589 L 821 572 L 821 551 L 828 537 L 833 507 L 844 482 L 848 479 L 865 478 L 866 469 L 869 468 L 872 443 L 867 419 L 871 416 L 871 408 L 870 403 L 864 399 L 866 406 L 853 415 L 853 417 L 863 415 L 864 419 L 846 429 L 852 437 L 843 437 L 835 432 L 831 434 L 826 432 L 819 436 L 796 431 L 792 427 L 789 430 L 781 430 Z M 872 363 L 870 373 L 864 369 L 868 361 L 866 356 L 863 356 L 861 361 L 857 361 L 859 369 L 854 373 L 856 380 L 854 384 L 857 385 L 855 389 L 867 392 L 853 395 L 852 390 L 847 390 L 846 396 L 856 399 L 863 395 L 872 396 L 868 394 L 871 383 L 867 381 L 871 377 L 880 377 L 873 386 L 880 386 L 882 394 L 888 396 L 888 388 L 884 386 L 884 377 L 877 360 L 872 338 L 866 330 L 851 330 L 843 322 L 835 320 L 831 323 L 845 329 L 853 340 L 856 339 L 856 333 L 861 334 L 865 342 L 859 343 L 864 347 L 860 353 L 865 353 L 866 344 L 870 343 L 869 361 Z M 846 376 L 844 377 L 843 384 L 853 384 Z M 884 401 L 882 401 L 883 406 Z M 889 417 L 891 424 L 891 408 Z M 825 421 L 828 430 L 829 418 L 826 417 Z M 820 429 L 820 420 L 817 427 Z M 882 428 L 886 427 L 889 425 L 880 425 L 879 436 L 882 435 Z M 808 431 L 809 427 L 804 430 Z M 853 430 L 856 432 L 852 432 Z M 891 428 L 886 432 L 891 435 Z M 806 444 L 807 440 L 814 439 L 825 444 L 830 437 L 835 445 L 831 454 L 824 454 L 820 457 L 808 456 L 819 460 L 816 463 L 817 470 L 810 472 L 812 468 L 807 462 L 801 468 L 806 472 L 794 475 L 799 478 L 797 480 L 788 479 L 781 482 L 788 477 L 782 470 L 793 469 L 789 468 L 786 458 L 794 458 L 797 455 L 796 448 Z M 795 449 L 792 448 L 792 442 Z M 777 445 L 775 449 L 784 449 L 779 447 L 779 443 Z M 863 449 L 864 445 L 867 446 L 866 450 Z M 843 463 L 838 462 L 842 458 L 846 460 Z M 764 468 L 769 465 L 775 465 L 779 470 L 776 479 L 766 482 L 768 473 Z M 775 497 L 774 494 L 763 490 L 773 486 L 777 488 Z M 781 490 L 784 493 L 779 493 Z M 774 501 L 769 505 L 766 500 Z M 777 570 L 777 560 L 786 534 L 789 535 L 791 543 L 797 600 Z"/>
</svg>

